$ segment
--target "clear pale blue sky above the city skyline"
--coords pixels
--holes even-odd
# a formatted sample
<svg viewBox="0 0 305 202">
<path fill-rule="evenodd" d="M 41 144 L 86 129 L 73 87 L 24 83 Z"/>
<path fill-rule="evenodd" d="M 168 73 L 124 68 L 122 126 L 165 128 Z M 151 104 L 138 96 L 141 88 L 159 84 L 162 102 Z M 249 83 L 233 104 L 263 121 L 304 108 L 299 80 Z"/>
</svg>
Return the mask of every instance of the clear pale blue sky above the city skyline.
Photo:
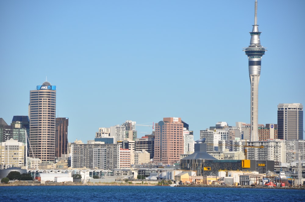
<svg viewBox="0 0 305 202">
<path fill-rule="evenodd" d="M 28 115 L 30 90 L 56 85 L 69 141 L 125 120 L 181 117 L 194 131 L 250 123 L 254 0 L 0 1 L 2 117 Z M 258 0 L 259 124 L 279 103 L 305 105 L 305 1 Z M 151 127 L 137 127 L 138 137 Z"/>
</svg>

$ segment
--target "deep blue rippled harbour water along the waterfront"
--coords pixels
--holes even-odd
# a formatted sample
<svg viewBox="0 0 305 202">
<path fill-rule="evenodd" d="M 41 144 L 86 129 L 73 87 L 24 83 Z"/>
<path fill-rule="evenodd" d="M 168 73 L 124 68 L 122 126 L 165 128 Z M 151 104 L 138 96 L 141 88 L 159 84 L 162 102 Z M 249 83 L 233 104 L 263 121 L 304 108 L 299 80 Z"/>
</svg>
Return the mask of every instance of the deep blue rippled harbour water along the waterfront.
<svg viewBox="0 0 305 202">
<path fill-rule="evenodd" d="M 305 190 L 170 186 L 2 186 L 0 201 L 305 201 Z"/>
</svg>

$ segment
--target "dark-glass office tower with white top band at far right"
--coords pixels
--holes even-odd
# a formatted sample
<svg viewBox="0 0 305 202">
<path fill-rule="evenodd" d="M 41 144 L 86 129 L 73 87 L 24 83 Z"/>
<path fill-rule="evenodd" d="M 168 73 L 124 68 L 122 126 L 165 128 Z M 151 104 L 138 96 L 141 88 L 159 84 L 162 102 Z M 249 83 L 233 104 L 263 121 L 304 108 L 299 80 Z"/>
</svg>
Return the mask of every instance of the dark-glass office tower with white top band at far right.
<svg viewBox="0 0 305 202">
<path fill-rule="evenodd" d="M 278 104 L 278 138 L 303 140 L 303 105 Z"/>
</svg>

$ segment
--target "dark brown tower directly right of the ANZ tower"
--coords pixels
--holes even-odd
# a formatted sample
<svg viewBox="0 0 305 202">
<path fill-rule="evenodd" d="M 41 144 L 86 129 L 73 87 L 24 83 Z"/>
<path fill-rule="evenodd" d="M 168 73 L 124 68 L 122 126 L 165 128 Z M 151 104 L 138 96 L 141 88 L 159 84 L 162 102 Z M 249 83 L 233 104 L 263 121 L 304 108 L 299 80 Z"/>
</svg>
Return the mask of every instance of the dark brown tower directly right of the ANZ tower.
<svg viewBox="0 0 305 202">
<path fill-rule="evenodd" d="M 56 118 L 56 147 L 55 147 L 55 156 L 62 157 L 62 154 L 69 154 L 68 151 L 68 118 Z"/>
</svg>

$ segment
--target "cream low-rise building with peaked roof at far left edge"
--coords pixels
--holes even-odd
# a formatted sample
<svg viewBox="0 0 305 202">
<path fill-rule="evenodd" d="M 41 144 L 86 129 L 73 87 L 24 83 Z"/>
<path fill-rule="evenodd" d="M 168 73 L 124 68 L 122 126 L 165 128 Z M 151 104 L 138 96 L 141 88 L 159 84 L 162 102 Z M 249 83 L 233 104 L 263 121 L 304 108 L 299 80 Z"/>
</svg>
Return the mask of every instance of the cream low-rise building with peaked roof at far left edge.
<svg viewBox="0 0 305 202">
<path fill-rule="evenodd" d="M 22 167 L 25 165 L 25 144 L 22 142 L 18 142 L 17 140 L 13 140 L 13 138 L 1 142 L 0 147 L 1 155 L 0 169 L 7 169 L 10 167 Z"/>
</svg>

